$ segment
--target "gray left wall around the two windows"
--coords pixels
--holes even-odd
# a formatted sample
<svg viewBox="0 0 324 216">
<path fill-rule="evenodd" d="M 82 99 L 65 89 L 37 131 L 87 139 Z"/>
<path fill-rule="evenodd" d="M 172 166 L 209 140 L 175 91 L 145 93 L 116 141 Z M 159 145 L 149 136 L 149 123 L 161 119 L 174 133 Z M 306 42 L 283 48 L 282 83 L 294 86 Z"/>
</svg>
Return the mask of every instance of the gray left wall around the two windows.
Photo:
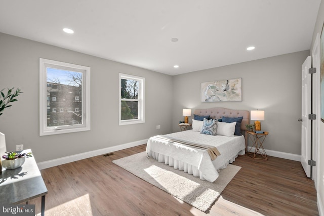
<svg viewBox="0 0 324 216">
<path fill-rule="evenodd" d="M 39 58 L 91 67 L 91 131 L 39 137 Z M 24 93 L 0 116 L 7 150 L 32 149 L 37 162 L 171 132 L 172 76 L 0 33 L 0 89 Z M 145 123 L 118 125 L 118 73 L 145 77 Z M 160 124 L 161 129 L 156 129 Z"/>
</svg>

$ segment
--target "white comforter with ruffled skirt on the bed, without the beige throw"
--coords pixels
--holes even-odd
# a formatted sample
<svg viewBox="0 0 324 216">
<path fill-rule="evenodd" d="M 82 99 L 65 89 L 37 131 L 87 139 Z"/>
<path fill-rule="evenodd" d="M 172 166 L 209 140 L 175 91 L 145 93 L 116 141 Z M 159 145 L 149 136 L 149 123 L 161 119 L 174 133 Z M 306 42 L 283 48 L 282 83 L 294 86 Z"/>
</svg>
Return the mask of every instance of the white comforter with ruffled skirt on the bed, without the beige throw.
<svg viewBox="0 0 324 216">
<path fill-rule="evenodd" d="M 217 147 L 221 155 L 212 161 L 205 150 L 166 142 L 157 137 L 151 137 L 147 141 L 148 156 L 209 182 L 214 182 L 218 178 L 217 170 L 226 168 L 238 154 L 245 154 L 244 136 L 211 136 L 192 130 L 165 136 Z"/>
</svg>

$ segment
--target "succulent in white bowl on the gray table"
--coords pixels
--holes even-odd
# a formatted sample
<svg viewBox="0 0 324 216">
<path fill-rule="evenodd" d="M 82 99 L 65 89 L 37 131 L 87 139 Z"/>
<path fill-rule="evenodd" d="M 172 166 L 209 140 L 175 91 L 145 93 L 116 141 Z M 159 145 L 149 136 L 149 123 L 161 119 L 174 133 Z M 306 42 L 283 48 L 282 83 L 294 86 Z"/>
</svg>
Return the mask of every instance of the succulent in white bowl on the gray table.
<svg viewBox="0 0 324 216">
<path fill-rule="evenodd" d="M 25 162 L 26 157 L 32 157 L 32 153 L 17 153 L 14 151 L 6 152 L 6 155 L 2 156 L 5 160 L 2 161 L 3 167 L 6 169 L 16 169 Z"/>
</svg>

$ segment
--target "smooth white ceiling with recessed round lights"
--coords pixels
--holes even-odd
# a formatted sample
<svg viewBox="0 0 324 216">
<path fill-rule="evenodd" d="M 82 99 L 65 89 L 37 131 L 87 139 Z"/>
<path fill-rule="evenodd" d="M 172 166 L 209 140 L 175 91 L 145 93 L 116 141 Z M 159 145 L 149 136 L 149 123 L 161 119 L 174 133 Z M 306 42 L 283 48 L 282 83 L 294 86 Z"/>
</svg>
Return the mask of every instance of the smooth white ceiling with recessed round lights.
<svg viewBox="0 0 324 216">
<path fill-rule="evenodd" d="M 0 32 L 176 75 L 309 50 L 319 4 L 320 0 L 0 0 Z M 255 50 L 247 51 L 250 46 Z"/>
</svg>

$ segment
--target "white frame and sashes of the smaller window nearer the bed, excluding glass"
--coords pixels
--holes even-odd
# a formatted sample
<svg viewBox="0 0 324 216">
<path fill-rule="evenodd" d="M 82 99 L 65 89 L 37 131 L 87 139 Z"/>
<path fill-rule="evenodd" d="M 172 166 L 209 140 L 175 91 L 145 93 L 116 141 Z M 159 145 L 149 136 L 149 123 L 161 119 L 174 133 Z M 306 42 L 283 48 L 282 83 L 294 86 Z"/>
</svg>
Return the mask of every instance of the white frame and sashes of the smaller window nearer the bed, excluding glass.
<svg viewBox="0 0 324 216">
<path fill-rule="evenodd" d="M 139 81 L 139 90 L 138 90 L 138 119 L 130 119 L 130 120 L 121 120 L 121 101 L 137 101 L 134 99 L 121 99 L 121 79 L 133 79 Z M 140 76 L 134 76 L 129 74 L 119 73 L 119 125 L 128 125 L 128 124 L 139 124 L 145 122 L 145 78 Z"/>
</svg>

